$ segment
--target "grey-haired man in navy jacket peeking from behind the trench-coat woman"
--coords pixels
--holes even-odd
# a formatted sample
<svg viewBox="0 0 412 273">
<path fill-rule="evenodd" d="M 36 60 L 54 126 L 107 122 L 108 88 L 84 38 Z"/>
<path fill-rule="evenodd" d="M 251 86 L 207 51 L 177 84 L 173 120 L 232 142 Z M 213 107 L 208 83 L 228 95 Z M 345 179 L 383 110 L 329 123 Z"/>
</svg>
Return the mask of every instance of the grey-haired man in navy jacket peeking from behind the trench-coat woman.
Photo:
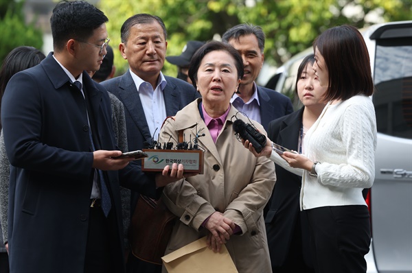
<svg viewBox="0 0 412 273">
<path fill-rule="evenodd" d="M 261 27 L 247 23 L 228 29 L 222 36 L 223 42 L 239 51 L 244 65 L 239 91 L 233 95 L 231 103 L 267 131 L 270 121 L 290 114 L 293 106 L 285 95 L 255 83 L 263 66 L 264 39 Z"/>
</svg>

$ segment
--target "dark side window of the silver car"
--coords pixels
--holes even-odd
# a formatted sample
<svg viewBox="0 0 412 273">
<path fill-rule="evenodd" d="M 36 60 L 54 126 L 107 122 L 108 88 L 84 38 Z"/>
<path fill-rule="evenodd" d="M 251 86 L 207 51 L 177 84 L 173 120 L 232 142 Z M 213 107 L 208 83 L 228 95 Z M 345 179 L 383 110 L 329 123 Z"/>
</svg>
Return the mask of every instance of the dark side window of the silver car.
<svg viewBox="0 0 412 273">
<path fill-rule="evenodd" d="M 412 40 L 376 40 L 373 95 L 378 132 L 412 139 Z"/>
</svg>

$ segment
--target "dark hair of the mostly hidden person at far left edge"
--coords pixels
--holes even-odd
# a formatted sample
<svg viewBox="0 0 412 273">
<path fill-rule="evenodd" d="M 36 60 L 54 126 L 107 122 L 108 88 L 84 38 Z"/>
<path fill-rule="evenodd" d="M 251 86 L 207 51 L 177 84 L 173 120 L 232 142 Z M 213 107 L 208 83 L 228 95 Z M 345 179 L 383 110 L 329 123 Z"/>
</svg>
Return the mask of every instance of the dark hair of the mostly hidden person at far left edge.
<svg viewBox="0 0 412 273">
<path fill-rule="evenodd" d="M 5 86 L 17 72 L 34 67 L 46 58 L 45 54 L 35 47 L 16 47 L 5 56 L 0 68 L 0 106 Z"/>
</svg>

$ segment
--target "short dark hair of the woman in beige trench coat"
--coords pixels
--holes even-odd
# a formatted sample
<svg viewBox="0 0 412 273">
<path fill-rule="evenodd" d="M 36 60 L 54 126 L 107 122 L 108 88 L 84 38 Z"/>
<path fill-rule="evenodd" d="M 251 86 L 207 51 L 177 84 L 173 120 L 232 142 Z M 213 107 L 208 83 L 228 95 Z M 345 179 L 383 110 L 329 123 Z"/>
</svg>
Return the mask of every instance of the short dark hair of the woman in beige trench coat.
<svg viewBox="0 0 412 273">
<path fill-rule="evenodd" d="M 196 51 L 196 53 L 192 57 L 192 61 L 190 62 L 188 75 L 190 80 L 192 80 L 192 84 L 195 89 L 197 88 L 196 81 L 198 69 L 201 66 L 203 58 L 205 58 L 205 55 L 210 53 L 211 51 L 226 51 L 227 53 L 229 53 L 233 57 L 233 59 L 235 59 L 236 70 L 238 71 L 238 79 L 242 79 L 244 73 L 243 60 L 239 52 L 227 43 L 211 40 L 210 42 L 205 43 L 205 45 L 203 45 Z"/>
</svg>

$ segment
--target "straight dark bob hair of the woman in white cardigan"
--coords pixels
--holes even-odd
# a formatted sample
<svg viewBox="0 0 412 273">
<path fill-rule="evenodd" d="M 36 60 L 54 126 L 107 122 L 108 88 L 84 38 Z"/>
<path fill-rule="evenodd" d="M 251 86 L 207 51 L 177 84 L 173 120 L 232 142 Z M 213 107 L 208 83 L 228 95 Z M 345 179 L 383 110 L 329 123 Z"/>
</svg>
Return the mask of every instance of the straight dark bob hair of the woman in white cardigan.
<svg viewBox="0 0 412 273">
<path fill-rule="evenodd" d="M 354 95 L 372 95 L 371 64 L 361 32 L 351 25 L 325 30 L 313 42 L 313 50 L 325 59 L 329 86 L 324 99 L 349 99 Z"/>
</svg>

